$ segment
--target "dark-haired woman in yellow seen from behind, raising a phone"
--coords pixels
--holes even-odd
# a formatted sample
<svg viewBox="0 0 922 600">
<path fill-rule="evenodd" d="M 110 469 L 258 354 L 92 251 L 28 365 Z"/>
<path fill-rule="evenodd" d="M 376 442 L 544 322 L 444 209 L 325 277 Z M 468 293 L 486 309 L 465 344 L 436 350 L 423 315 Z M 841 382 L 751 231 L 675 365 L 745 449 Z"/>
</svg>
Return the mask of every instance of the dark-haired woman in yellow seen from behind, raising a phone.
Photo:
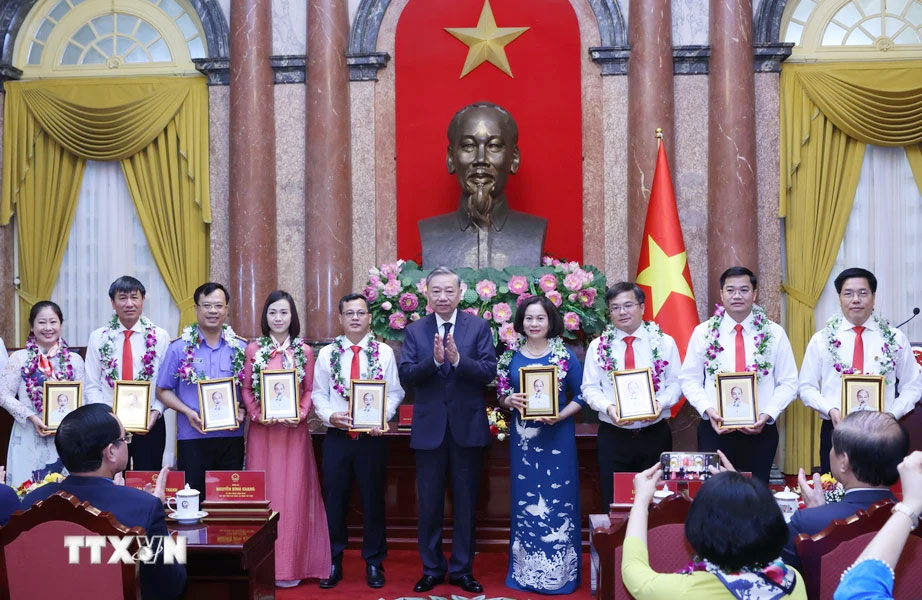
<svg viewBox="0 0 922 600">
<path fill-rule="evenodd" d="M 657 573 L 647 551 L 647 512 L 659 465 L 634 477 L 634 505 L 624 538 L 621 576 L 637 600 L 798 598 L 807 589 L 779 556 L 787 538 L 781 509 L 761 481 L 733 471 L 704 482 L 685 521 L 696 556 L 680 573 Z"/>
</svg>

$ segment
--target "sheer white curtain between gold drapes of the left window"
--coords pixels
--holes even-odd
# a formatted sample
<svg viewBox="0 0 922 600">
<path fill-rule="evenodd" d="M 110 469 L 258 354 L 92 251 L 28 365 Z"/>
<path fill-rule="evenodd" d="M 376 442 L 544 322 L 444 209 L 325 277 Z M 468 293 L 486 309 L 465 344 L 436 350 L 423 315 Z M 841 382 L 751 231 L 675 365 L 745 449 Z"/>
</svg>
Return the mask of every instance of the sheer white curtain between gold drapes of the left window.
<svg viewBox="0 0 922 600">
<path fill-rule="evenodd" d="M 68 344 L 86 345 L 90 333 L 109 319 L 109 284 L 122 275 L 136 277 L 144 284 L 144 314 L 168 335 L 179 330 L 179 307 L 147 246 L 121 165 L 87 161 L 74 225 L 51 293 L 64 313 L 62 333 Z M 164 464 L 172 465 L 176 414 L 168 410 L 165 418 Z"/>
</svg>

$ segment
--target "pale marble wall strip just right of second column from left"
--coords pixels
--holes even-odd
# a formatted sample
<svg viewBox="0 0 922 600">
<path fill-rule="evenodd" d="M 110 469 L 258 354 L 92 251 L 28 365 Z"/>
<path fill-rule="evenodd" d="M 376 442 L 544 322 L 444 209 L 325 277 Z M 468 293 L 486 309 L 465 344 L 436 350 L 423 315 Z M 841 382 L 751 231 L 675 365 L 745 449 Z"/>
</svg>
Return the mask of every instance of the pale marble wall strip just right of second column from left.
<svg viewBox="0 0 922 600">
<path fill-rule="evenodd" d="M 360 290 L 377 262 L 375 207 L 375 82 L 349 87 L 352 111 L 352 289 Z"/>
</svg>

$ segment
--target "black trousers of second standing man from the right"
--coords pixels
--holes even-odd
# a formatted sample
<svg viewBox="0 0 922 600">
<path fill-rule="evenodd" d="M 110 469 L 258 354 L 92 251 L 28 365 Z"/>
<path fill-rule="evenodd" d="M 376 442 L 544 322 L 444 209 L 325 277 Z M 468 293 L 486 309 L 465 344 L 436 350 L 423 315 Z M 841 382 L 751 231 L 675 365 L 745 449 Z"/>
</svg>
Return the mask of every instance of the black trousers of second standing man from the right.
<svg viewBox="0 0 922 600">
<path fill-rule="evenodd" d="M 727 455 L 737 471 L 749 471 L 756 479 L 768 483 L 772 472 L 772 461 L 778 449 L 778 427 L 766 425 L 755 435 L 740 431 L 718 434 L 711 422 L 702 419 L 698 423 L 698 450 Z"/>
</svg>

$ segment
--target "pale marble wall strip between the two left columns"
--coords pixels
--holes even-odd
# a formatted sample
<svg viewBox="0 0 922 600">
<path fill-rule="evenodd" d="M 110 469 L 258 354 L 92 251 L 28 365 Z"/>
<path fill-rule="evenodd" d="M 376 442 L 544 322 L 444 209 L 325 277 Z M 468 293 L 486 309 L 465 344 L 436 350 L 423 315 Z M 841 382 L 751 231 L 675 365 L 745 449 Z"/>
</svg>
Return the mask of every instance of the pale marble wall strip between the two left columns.
<svg viewBox="0 0 922 600">
<path fill-rule="evenodd" d="M 294 296 L 301 315 L 306 315 L 304 239 L 311 235 L 304 222 L 304 91 L 303 85 L 275 86 L 277 285 Z"/>
</svg>

